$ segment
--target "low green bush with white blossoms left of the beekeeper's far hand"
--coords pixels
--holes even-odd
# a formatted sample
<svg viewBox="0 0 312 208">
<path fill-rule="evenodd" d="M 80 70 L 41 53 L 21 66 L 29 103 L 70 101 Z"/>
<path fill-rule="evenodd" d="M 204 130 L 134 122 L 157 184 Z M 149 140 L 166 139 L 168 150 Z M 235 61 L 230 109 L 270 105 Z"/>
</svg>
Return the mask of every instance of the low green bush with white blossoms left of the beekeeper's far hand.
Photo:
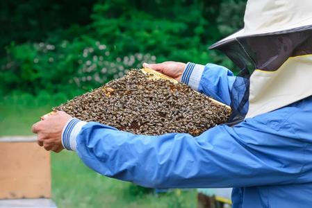
<svg viewBox="0 0 312 208">
<path fill-rule="evenodd" d="M 8 60 L 0 73 L 1 88 L 33 95 L 44 90 L 75 96 L 123 76 L 126 69 L 156 60 L 149 53 L 119 56 L 88 36 L 60 44 L 13 44 L 7 51 Z"/>
</svg>

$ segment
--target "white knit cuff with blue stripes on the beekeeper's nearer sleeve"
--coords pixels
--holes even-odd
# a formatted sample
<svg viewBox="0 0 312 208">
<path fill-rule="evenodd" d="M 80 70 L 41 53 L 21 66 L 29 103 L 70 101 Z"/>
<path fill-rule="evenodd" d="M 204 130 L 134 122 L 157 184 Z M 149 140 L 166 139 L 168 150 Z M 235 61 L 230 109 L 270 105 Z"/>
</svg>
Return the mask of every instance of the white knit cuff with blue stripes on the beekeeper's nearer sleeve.
<svg viewBox="0 0 312 208">
<path fill-rule="evenodd" d="M 62 132 L 62 145 L 65 149 L 76 151 L 76 137 L 86 123 L 76 118 L 67 121 Z"/>
</svg>

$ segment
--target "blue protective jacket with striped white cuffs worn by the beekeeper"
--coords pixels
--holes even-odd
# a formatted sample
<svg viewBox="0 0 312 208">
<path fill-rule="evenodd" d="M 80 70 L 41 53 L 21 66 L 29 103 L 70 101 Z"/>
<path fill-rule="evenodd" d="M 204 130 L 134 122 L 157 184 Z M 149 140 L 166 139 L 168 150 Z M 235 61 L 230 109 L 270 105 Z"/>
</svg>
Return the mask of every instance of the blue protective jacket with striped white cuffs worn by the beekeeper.
<svg viewBox="0 0 312 208">
<path fill-rule="evenodd" d="M 215 64 L 189 63 L 182 80 L 229 104 L 235 78 Z M 62 139 L 98 173 L 144 187 L 234 187 L 234 208 L 312 207 L 311 97 L 198 137 L 133 135 L 72 119 Z"/>
</svg>

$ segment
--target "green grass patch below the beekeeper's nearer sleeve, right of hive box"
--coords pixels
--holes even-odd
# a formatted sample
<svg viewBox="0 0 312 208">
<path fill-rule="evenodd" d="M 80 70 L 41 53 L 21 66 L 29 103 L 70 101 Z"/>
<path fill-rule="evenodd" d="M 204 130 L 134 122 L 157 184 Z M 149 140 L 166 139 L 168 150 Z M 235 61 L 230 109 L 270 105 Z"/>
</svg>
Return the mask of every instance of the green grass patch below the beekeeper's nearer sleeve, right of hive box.
<svg viewBox="0 0 312 208">
<path fill-rule="evenodd" d="M 53 199 L 58 207 L 195 207 L 194 190 L 133 195 L 129 182 L 104 177 L 86 167 L 76 153 L 52 154 Z"/>
</svg>

